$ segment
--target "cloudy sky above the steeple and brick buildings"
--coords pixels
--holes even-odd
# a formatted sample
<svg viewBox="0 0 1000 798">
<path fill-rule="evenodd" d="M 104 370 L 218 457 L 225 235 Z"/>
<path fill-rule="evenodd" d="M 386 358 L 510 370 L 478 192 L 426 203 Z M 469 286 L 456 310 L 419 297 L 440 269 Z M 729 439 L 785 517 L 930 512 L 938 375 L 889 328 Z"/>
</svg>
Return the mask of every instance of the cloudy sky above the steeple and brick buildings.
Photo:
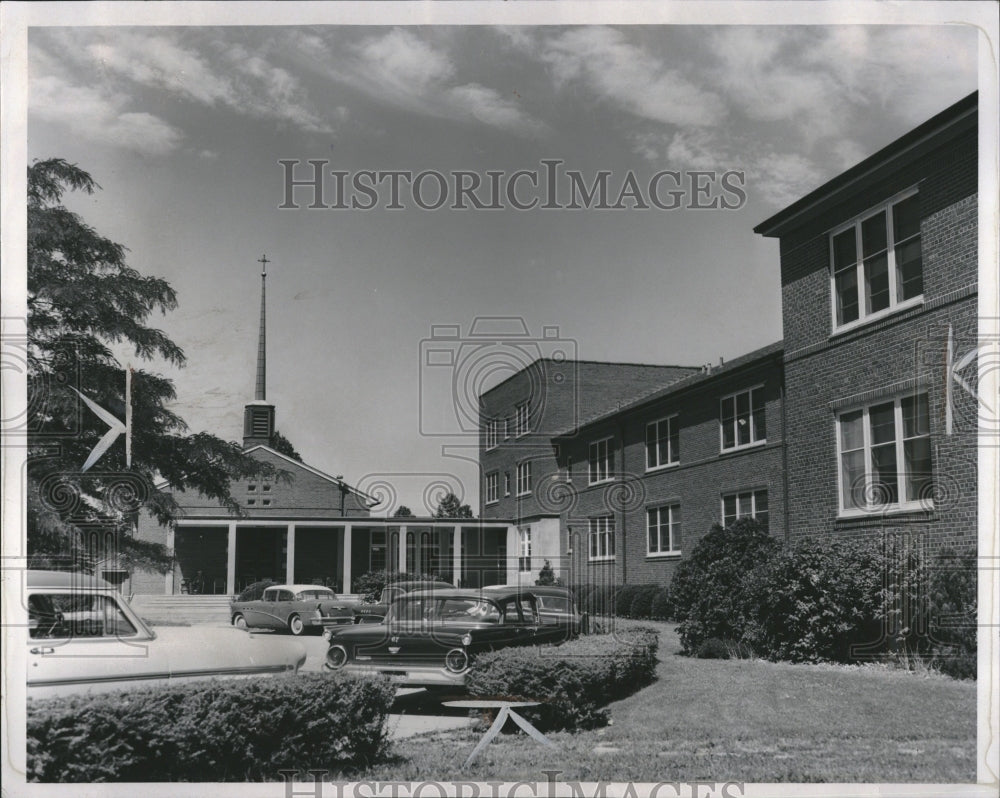
<svg viewBox="0 0 1000 798">
<path fill-rule="evenodd" d="M 28 46 L 29 161 L 88 171 L 102 190 L 67 206 L 177 290 L 150 323 L 187 365 L 143 364 L 174 379 L 174 409 L 241 438 L 266 253 L 279 430 L 417 514 L 443 485 L 478 508 L 463 409 L 505 363 L 700 365 L 780 339 L 777 243 L 754 225 L 974 91 L 977 65 L 964 26 L 49 27 Z M 310 159 L 348 181 L 438 172 L 448 202 L 404 188 L 390 209 L 381 183 L 369 210 L 311 209 L 302 189 L 280 208 L 279 161 L 303 179 Z M 452 207 L 455 172 L 486 186 L 544 178 L 543 160 L 587 185 L 609 172 L 622 207 Z M 680 207 L 615 203 L 664 170 Z M 709 180 L 739 207 L 689 207 L 708 204 L 692 170 L 741 173 L 741 194 Z M 473 346 L 474 325 L 522 334 Z M 428 361 L 449 348 L 453 365 Z"/>
</svg>

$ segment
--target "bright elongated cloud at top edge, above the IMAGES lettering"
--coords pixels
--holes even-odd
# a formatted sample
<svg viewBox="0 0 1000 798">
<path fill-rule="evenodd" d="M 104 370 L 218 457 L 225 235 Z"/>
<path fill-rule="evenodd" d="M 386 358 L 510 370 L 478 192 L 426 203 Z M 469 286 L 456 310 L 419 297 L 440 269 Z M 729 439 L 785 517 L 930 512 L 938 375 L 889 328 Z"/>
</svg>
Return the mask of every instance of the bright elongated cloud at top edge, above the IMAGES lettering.
<svg viewBox="0 0 1000 798">
<path fill-rule="evenodd" d="M 576 28 L 550 37 L 539 57 L 551 67 L 557 86 L 583 83 L 603 102 L 642 119 L 704 126 L 718 124 L 726 115 L 714 91 L 688 80 L 612 28 Z"/>
</svg>

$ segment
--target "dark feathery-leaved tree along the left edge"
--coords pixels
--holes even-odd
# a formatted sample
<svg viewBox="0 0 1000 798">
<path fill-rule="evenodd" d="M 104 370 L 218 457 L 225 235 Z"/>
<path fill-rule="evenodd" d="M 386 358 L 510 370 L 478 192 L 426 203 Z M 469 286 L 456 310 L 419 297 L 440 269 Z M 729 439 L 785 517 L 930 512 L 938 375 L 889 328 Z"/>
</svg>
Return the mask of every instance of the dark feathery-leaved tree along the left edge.
<svg viewBox="0 0 1000 798">
<path fill-rule="evenodd" d="M 146 324 L 154 311 L 176 307 L 174 289 L 129 267 L 122 245 L 60 204 L 67 190 L 97 188 L 87 172 L 59 158 L 28 168 L 28 554 L 35 564 L 76 560 L 81 544 L 96 539 L 98 558 L 117 548 L 118 567 L 165 571 L 166 548 L 129 534 L 140 508 L 167 523 L 177 512 L 171 491 L 185 490 L 239 513 L 231 480 L 282 473 L 239 444 L 187 434 L 167 406 L 173 383 L 143 370 L 132 376 L 131 466 L 120 436 L 82 470 L 108 424 L 73 389 L 124 418 L 125 372 L 112 347 L 131 347 L 138 360 L 185 362 L 180 347 Z"/>
</svg>

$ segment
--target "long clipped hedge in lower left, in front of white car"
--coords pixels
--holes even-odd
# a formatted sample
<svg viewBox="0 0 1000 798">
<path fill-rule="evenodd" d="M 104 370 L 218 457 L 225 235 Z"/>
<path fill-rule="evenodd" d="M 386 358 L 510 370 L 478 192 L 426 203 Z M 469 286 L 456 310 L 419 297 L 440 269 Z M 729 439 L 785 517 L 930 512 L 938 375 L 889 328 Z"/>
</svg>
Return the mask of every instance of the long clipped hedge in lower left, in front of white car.
<svg viewBox="0 0 1000 798">
<path fill-rule="evenodd" d="M 365 768 L 387 748 L 385 679 L 299 674 L 212 680 L 27 705 L 36 782 L 280 781 Z"/>
</svg>

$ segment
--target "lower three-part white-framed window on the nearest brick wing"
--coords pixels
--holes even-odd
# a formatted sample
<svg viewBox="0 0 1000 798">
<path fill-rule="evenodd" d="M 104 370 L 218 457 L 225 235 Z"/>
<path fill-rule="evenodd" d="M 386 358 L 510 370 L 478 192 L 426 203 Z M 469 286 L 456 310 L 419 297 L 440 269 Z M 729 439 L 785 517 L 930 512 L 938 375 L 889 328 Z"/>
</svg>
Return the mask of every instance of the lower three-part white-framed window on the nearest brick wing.
<svg viewBox="0 0 1000 798">
<path fill-rule="evenodd" d="M 837 427 L 841 512 L 933 506 L 926 394 L 841 413 Z"/>
</svg>

